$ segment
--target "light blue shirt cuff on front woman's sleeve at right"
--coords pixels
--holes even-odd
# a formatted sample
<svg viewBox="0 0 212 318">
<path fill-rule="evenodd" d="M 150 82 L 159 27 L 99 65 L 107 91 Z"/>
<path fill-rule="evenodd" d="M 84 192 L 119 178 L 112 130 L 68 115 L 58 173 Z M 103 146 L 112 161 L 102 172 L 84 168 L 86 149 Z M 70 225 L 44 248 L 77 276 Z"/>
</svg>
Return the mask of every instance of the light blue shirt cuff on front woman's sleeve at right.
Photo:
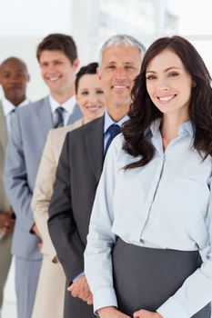
<svg viewBox="0 0 212 318">
<path fill-rule="evenodd" d="M 190 318 L 190 315 L 185 312 L 173 297 L 170 297 L 166 303 L 163 303 L 157 310 L 164 318 Z"/>
</svg>

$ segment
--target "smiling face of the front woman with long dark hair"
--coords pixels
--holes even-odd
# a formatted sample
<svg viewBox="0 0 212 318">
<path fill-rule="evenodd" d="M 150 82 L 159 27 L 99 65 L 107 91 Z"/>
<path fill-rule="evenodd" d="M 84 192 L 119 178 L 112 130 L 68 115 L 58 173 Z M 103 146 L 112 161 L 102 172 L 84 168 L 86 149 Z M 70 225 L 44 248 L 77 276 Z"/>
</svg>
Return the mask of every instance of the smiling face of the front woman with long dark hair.
<svg viewBox="0 0 212 318">
<path fill-rule="evenodd" d="M 165 49 L 146 67 L 146 89 L 163 114 L 188 114 L 193 81 L 174 51 Z"/>
</svg>

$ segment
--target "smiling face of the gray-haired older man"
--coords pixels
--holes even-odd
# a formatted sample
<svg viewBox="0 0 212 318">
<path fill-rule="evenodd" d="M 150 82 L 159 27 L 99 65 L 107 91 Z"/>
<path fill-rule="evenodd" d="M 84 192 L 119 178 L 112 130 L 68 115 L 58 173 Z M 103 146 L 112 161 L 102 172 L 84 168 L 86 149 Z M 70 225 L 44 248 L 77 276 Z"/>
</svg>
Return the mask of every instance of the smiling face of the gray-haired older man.
<svg viewBox="0 0 212 318">
<path fill-rule="evenodd" d="M 99 75 L 106 95 L 106 106 L 126 106 L 141 67 L 141 55 L 136 46 L 114 45 L 102 55 Z"/>
</svg>

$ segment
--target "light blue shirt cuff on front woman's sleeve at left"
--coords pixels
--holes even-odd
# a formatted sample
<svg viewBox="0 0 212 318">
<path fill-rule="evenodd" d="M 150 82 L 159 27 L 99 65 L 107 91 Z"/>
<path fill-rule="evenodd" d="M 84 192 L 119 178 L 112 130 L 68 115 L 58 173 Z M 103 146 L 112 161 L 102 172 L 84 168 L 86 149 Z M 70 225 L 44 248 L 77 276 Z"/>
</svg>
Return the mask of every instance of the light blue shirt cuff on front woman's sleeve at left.
<svg viewBox="0 0 212 318">
<path fill-rule="evenodd" d="M 94 297 L 94 311 L 97 313 L 97 310 L 103 307 L 113 306 L 117 307 L 116 293 L 114 288 L 105 287 L 96 290 L 93 293 Z"/>
</svg>

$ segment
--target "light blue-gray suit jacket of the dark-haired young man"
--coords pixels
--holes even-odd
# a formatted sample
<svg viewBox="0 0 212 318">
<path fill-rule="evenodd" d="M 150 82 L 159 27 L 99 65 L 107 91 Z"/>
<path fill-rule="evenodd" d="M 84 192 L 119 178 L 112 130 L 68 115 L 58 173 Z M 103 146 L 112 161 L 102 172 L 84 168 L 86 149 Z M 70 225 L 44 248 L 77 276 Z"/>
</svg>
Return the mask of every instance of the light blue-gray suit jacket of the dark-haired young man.
<svg viewBox="0 0 212 318">
<path fill-rule="evenodd" d="M 68 124 L 81 117 L 78 106 Z M 49 97 L 17 109 L 5 156 L 5 190 L 16 214 L 12 253 L 31 260 L 41 258 L 38 239 L 30 232 L 34 218 L 31 199 L 48 131 L 53 128 Z"/>
</svg>

